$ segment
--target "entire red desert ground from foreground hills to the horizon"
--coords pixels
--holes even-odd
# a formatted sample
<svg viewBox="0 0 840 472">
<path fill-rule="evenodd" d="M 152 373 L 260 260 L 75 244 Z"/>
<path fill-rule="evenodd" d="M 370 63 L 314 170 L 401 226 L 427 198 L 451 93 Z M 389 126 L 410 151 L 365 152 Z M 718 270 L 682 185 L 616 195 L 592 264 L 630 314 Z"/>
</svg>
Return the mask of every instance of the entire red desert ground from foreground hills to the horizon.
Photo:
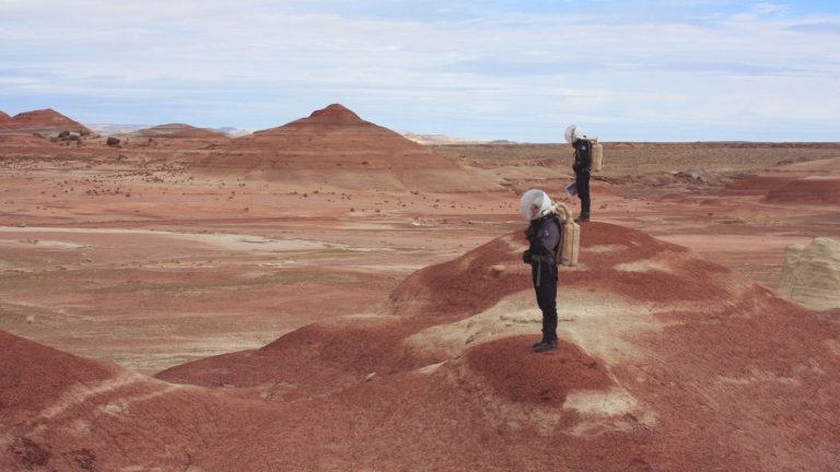
<svg viewBox="0 0 840 472">
<path fill-rule="evenodd" d="M 0 469 L 837 470 L 836 295 L 782 279 L 840 144 L 604 149 L 537 355 L 518 198 L 576 213 L 568 144 L 0 114 Z"/>
</svg>

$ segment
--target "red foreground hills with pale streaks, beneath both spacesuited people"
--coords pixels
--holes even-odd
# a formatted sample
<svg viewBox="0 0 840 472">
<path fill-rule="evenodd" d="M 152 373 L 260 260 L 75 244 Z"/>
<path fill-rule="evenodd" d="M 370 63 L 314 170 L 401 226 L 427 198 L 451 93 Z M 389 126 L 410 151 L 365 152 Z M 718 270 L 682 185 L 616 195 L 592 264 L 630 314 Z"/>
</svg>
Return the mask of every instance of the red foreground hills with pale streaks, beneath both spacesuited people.
<svg viewBox="0 0 840 472">
<path fill-rule="evenodd" d="M 523 239 L 416 272 L 380 317 L 165 381 L 3 334 L 0 469 L 837 470 L 836 320 L 590 223 L 560 275 L 559 349 L 536 355 Z"/>
</svg>

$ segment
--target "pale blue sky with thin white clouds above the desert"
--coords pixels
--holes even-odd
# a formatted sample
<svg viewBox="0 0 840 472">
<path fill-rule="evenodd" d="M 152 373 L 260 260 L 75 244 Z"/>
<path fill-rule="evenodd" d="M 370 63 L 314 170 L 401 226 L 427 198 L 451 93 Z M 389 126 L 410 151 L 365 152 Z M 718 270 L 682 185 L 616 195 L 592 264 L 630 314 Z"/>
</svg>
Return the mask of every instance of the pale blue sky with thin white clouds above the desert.
<svg viewBox="0 0 840 472">
<path fill-rule="evenodd" d="M 0 0 L 0 110 L 265 129 L 840 141 L 840 2 Z"/>
</svg>

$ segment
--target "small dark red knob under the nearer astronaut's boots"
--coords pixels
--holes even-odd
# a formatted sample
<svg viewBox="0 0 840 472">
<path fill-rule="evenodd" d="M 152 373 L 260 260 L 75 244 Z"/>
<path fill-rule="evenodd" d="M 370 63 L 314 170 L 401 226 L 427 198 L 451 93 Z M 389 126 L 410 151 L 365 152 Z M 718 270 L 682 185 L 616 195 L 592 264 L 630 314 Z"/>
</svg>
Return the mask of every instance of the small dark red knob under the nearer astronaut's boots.
<svg viewBox="0 0 840 472">
<path fill-rule="evenodd" d="M 560 408 L 572 390 L 605 390 L 611 385 L 604 364 L 580 347 L 559 341 L 557 351 L 534 355 L 534 337 L 511 337 L 466 352 L 469 366 L 495 392 L 512 402 Z"/>
</svg>

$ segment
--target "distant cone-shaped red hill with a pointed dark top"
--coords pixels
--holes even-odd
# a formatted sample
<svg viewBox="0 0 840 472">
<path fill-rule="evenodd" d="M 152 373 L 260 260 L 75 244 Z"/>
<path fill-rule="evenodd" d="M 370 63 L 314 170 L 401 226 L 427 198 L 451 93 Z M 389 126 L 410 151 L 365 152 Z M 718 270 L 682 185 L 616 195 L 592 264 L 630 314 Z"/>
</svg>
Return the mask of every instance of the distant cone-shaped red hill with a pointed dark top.
<svg viewBox="0 0 840 472">
<path fill-rule="evenodd" d="M 290 185 L 351 189 L 485 191 L 498 186 L 334 104 L 310 117 L 233 140 L 197 168 Z"/>
</svg>

